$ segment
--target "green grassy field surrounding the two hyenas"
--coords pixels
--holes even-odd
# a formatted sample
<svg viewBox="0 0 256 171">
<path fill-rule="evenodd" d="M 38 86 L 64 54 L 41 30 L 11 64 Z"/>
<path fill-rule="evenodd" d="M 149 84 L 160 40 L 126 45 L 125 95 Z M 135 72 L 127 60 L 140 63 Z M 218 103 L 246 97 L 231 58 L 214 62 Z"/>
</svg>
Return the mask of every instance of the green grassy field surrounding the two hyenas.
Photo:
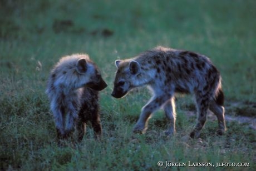
<svg viewBox="0 0 256 171">
<path fill-rule="evenodd" d="M 189 95 L 177 99 L 177 134 L 165 138 L 163 112 L 146 134 L 132 134 L 145 88 L 111 97 L 115 59 L 161 45 L 206 54 L 223 76 L 226 113 L 256 115 L 256 1 L 0 1 L 1 170 L 255 170 L 256 133 L 247 123 L 227 122 L 215 135 L 209 119 L 200 139 Z M 90 127 L 81 144 L 57 145 L 45 94 L 51 67 L 61 56 L 88 53 L 109 86 L 101 92 L 104 136 Z M 191 113 L 191 112 L 190 112 Z M 158 167 L 157 162 L 164 166 Z M 250 167 L 188 167 L 189 161 L 250 163 Z"/>
</svg>

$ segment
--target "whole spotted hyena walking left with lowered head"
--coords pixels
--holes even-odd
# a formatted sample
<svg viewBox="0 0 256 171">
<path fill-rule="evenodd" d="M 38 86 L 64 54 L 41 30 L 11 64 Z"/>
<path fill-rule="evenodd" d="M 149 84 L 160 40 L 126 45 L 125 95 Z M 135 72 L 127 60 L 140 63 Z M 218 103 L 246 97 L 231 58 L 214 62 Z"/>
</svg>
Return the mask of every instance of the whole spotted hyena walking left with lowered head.
<svg viewBox="0 0 256 171">
<path fill-rule="evenodd" d="M 219 71 L 210 59 L 189 51 L 156 47 L 132 59 L 117 60 L 112 96 L 124 97 L 132 88 L 147 85 L 154 95 L 142 108 L 134 132 L 144 133 L 148 119 L 160 107 L 169 120 L 166 134 L 175 133 L 175 93 L 194 93 L 198 119 L 190 137 L 198 138 L 208 108 L 218 118 L 218 134 L 225 132 L 224 94 Z"/>
</svg>

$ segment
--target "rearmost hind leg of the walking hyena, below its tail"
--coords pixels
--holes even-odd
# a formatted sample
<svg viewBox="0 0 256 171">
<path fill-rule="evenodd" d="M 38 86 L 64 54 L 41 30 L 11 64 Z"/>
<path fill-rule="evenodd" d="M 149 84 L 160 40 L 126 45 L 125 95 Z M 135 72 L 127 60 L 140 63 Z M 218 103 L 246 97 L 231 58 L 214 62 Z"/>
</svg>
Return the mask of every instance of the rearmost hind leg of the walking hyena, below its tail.
<svg viewBox="0 0 256 171">
<path fill-rule="evenodd" d="M 225 109 L 223 106 L 216 104 L 215 100 L 213 100 L 210 105 L 209 105 L 209 109 L 211 110 L 211 112 L 213 112 L 216 117 L 218 118 L 218 124 L 219 124 L 219 128 L 217 130 L 217 134 L 218 135 L 223 135 L 225 133 L 225 130 L 227 130 L 226 128 L 226 123 L 225 123 L 225 118 L 224 118 L 224 112 Z"/>
</svg>

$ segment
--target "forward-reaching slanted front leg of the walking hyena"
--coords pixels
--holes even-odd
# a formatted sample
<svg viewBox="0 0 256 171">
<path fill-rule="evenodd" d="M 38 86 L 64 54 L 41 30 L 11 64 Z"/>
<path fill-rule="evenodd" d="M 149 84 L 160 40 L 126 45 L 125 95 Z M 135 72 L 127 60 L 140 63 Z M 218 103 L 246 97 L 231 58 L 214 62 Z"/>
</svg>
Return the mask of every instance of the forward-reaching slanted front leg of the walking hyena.
<svg viewBox="0 0 256 171">
<path fill-rule="evenodd" d="M 171 97 L 171 96 L 170 96 Z M 148 120 L 151 117 L 151 114 L 154 113 L 157 109 L 161 107 L 168 99 L 168 95 L 159 95 L 153 97 L 149 103 L 147 103 L 141 110 L 140 118 L 137 121 L 134 127 L 134 133 L 145 133 L 147 129 Z"/>
</svg>

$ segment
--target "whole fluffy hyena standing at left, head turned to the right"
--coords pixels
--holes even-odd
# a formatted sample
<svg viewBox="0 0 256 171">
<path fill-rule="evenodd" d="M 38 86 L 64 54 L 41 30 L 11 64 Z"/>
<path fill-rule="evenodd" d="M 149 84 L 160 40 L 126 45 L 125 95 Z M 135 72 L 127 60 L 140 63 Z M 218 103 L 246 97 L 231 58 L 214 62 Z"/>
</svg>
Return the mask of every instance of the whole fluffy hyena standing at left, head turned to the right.
<svg viewBox="0 0 256 171">
<path fill-rule="evenodd" d="M 87 54 L 60 59 L 51 71 L 46 90 L 59 139 L 69 137 L 76 124 L 81 141 L 88 121 L 95 135 L 101 134 L 98 94 L 105 87 L 99 69 Z"/>
</svg>

